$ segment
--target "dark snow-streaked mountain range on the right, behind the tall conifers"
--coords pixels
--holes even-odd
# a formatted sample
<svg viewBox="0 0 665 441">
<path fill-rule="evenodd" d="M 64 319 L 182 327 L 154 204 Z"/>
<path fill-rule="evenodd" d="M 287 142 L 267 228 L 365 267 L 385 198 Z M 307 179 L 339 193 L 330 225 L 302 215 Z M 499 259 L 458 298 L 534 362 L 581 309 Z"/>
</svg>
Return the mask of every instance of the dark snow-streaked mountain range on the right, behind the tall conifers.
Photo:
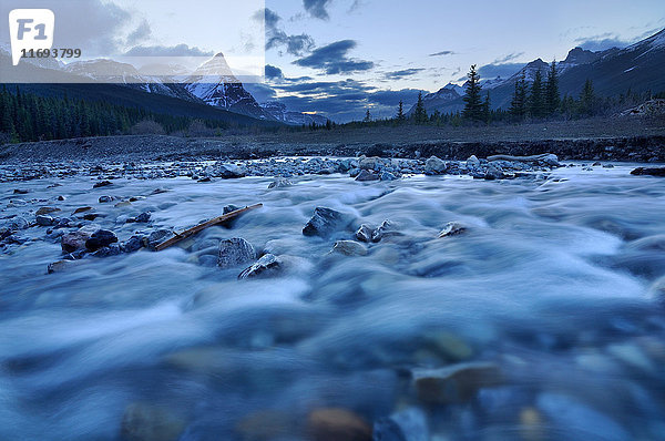
<svg viewBox="0 0 665 441">
<path fill-rule="evenodd" d="M 559 89 L 562 95 L 577 96 L 589 79 L 594 91 L 601 96 L 613 96 L 633 92 L 665 91 L 665 29 L 624 49 L 612 48 L 592 52 L 582 48 L 572 49 L 565 60 L 557 63 Z M 546 76 L 549 64 L 536 59 L 526 64 L 510 79 L 492 84 L 490 96 L 493 109 L 508 109 L 514 91 L 515 81 L 524 73 L 526 82 L 533 82 L 535 72 L 541 70 Z M 438 93 L 438 92 L 437 92 Z M 454 100 L 431 101 L 426 104 L 429 113 L 439 110 L 442 113 L 463 109 L 461 98 Z"/>
</svg>

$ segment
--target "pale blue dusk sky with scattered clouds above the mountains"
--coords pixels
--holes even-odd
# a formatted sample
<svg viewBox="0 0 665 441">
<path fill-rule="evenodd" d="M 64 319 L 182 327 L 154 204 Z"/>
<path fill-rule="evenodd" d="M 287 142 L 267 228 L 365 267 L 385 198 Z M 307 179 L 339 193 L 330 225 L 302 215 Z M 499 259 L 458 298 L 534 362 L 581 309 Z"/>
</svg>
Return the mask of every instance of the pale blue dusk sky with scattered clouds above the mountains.
<svg viewBox="0 0 665 441">
<path fill-rule="evenodd" d="M 0 12 L 16 7 L 57 9 L 55 39 L 91 58 L 259 60 L 265 82 L 246 84 L 259 102 L 338 122 L 367 109 L 391 116 L 400 100 L 408 109 L 419 92 L 463 82 L 471 64 L 508 78 L 665 28 L 663 0 L 2 0 Z"/>
</svg>

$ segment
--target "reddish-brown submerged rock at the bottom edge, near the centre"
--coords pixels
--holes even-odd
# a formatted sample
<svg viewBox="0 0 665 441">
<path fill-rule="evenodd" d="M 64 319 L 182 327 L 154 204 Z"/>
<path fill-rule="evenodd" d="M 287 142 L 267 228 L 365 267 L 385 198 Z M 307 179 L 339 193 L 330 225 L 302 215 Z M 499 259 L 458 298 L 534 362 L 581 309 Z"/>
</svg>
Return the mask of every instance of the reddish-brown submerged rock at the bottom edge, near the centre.
<svg viewBox="0 0 665 441">
<path fill-rule="evenodd" d="M 371 425 L 345 409 L 318 409 L 307 417 L 307 431 L 313 441 L 371 441 Z"/>
</svg>

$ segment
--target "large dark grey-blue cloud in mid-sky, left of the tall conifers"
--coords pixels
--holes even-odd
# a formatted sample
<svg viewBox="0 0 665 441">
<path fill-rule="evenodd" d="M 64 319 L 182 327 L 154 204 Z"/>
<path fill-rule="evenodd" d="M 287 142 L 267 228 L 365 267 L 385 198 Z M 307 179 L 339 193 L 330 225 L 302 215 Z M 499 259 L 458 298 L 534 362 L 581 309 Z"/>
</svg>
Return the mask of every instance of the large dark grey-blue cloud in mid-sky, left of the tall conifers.
<svg viewBox="0 0 665 441">
<path fill-rule="evenodd" d="M 347 52 L 356 48 L 354 40 L 340 40 L 328 45 L 315 49 L 310 55 L 294 61 L 294 64 L 304 68 L 318 69 L 328 75 L 368 71 L 374 68 L 374 62 L 352 60 L 347 58 Z"/>
</svg>

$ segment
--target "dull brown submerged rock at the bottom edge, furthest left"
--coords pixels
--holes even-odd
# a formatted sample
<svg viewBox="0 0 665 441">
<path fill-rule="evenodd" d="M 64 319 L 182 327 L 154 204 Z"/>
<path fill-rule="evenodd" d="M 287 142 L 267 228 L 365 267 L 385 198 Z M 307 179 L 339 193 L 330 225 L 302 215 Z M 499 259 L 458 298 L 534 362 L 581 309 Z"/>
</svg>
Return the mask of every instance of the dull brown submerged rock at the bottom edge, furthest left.
<svg viewBox="0 0 665 441">
<path fill-rule="evenodd" d="M 185 421 L 171 411 L 146 403 L 132 403 L 122 418 L 123 441 L 176 441 Z"/>
</svg>

